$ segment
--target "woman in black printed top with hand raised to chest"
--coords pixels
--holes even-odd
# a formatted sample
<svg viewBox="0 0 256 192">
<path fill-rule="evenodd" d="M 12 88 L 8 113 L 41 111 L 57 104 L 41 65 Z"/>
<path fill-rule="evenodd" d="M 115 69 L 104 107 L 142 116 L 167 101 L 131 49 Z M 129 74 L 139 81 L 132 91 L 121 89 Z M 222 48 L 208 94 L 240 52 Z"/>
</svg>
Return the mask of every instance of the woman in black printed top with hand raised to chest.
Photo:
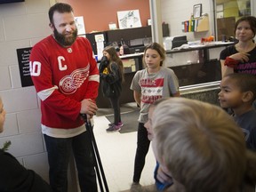
<svg viewBox="0 0 256 192">
<path fill-rule="evenodd" d="M 256 18 L 244 16 L 236 21 L 236 39 L 238 43 L 228 46 L 220 52 L 222 76 L 230 73 L 256 75 Z"/>
</svg>

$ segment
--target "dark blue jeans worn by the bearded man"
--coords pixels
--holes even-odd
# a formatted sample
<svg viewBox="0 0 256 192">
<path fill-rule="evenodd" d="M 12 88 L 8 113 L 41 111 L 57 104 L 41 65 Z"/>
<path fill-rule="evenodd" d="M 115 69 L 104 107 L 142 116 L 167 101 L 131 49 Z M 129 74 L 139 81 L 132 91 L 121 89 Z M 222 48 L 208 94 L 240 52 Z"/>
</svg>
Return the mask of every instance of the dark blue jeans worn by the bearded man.
<svg viewBox="0 0 256 192">
<path fill-rule="evenodd" d="M 89 132 L 72 138 L 52 138 L 44 134 L 50 166 L 50 185 L 54 192 L 68 191 L 68 164 L 73 150 L 81 192 L 97 192 Z"/>
</svg>

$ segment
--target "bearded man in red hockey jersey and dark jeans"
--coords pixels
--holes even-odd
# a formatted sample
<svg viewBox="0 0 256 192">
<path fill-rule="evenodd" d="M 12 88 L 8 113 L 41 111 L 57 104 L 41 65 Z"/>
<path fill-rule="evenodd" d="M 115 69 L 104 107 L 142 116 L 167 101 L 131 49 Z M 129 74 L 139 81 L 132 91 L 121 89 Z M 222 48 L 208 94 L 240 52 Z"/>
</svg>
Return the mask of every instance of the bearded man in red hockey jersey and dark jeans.
<svg viewBox="0 0 256 192">
<path fill-rule="evenodd" d="M 48 153 L 50 185 L 68 191 L 68 163 L 73 151 L 82 192 L 97 191 L 91 140 L 80 114 L 96 113 L 99 70 L 90 42 L 77 36 L 74 12 L 57 3 L 49 10 L 52 35 L 32 48 L 30 75 L 41 101 L 41 127 Z"/>
</svg>

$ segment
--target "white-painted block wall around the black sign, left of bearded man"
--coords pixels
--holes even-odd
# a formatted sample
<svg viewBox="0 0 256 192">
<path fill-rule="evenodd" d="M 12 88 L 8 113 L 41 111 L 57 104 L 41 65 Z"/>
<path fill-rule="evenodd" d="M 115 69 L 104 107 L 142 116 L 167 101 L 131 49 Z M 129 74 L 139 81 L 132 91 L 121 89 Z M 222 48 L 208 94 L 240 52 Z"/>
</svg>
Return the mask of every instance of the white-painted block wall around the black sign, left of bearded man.
<svg viewBox="0 0 256 192">
<path fill-rule="evenodd" d="M 34 86 L 21 87 L 16 49 L 31 47 L 51 33 L 51 0 L 0 4 L 0 96 L 7 111 L 0 148 L 11 140 L 9 152 L 24 166 L 48 180 L 47 154 L 40 128 L 40 110 Z"/>
</svg>

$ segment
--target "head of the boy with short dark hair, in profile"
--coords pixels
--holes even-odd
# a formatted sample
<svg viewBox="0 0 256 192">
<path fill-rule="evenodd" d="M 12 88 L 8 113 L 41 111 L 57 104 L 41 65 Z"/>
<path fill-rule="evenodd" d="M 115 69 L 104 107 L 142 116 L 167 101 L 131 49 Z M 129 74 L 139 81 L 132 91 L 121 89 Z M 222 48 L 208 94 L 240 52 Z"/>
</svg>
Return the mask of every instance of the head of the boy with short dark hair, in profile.
<svg viewBox="0 0 256 192">
<path fill-rule="evenodd" d="M 256 76 L 251 74 L 229 74 L 220 82 L 219 100 L 222 108 L 252 106 L 256 99 Z"/>
</svg>

